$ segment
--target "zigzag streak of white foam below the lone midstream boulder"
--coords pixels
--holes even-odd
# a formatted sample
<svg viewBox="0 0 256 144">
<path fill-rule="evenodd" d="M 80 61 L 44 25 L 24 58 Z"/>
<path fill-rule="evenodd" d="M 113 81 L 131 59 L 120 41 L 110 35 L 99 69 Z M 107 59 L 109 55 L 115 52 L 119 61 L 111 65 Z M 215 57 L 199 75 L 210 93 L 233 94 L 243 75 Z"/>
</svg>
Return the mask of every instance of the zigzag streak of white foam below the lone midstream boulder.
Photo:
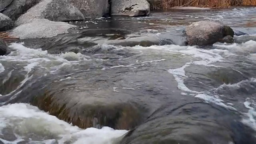
<svg viewBox="0 0 256 144">
<path fill-rule="evenodd" d="M 136 46 L 133 47 L 135 49 L 154 49 L 154 50 L 163 50 L 168 51 L 170 53 L 180 53 L 181 55 L 191 56 L 199 60 L 194 60 L 190 62 L 186 62 L 184 66 L 176 69 L 169 69 L 168 72 L 172 74 L 175 80 L 178 83 L 178 89 L 189 92 L 190 96 L 194 96 L 195 98 L 199 98 L 204 100 L 205 102 L 212 102 L 224 108 L 236 110 L 230 105 L 224 104 L 224 101 L 220 99 L 217 95 L 210 95 L 207 92 L 197 92 L 194 90 L 190 90 L 185 84 L 184 80 L 188 77 L 186 76 L 185 68 L 192 65 L 203 65 L 203 66 L 214 66 L 221 67 L 216 65 L 218 62 L 223 62 L 223 55 L 229 56 L 233 55 L 227 49 L 212 49 L 205 50 L 199 49 L 197 46 L 177 46 L 177 45 L 165 45 L 165 46 L 150 46 L 150 47 L 141 47 Z M 182 93 L 184 95 L 186 93 Z"/>
</svg>

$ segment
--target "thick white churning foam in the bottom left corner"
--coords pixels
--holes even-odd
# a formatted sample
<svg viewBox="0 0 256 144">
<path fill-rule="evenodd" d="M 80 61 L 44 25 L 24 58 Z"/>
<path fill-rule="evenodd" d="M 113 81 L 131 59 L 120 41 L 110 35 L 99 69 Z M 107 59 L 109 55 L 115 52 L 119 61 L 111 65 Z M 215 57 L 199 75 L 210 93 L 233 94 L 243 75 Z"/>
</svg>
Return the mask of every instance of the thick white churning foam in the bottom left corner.
<svg viewBox="0 0 256 144">
<path fill-rule="evenodd" d="M 15 141 L 3 141 L 5 144 L 17 144 L 24 140 L 33 141 L 33 135 L 42 138 L 42 141 L 52 141 L 54 137 L 60 144 L 113 144 L 124 135 L 127 130 L 114 130 L 109 127 L 102 129 L 81 129 L 67 122 L 59 120 L 46 112 L 29 104 L 9 104 L 0 107 L 0 130 L 11 128 L 14 132 Z M 5 136 L 5 135 L 4 135 Z M 48 139 L 47 139 L 48 138 Z"/>
</svg>

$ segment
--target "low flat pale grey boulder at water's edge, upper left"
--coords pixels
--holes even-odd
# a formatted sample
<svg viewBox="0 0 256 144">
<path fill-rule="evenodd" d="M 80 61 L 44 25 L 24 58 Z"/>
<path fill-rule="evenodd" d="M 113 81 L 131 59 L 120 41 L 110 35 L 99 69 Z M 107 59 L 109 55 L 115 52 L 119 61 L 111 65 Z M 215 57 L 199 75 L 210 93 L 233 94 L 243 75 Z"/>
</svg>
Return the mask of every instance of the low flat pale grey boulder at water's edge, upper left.
<svg viewBox="0 0 256 144">
<path fill-rule="evenodd" d="M 47 19 L 34 19 L 22 24 L 10 32 L 10 36 L 27 38 L 52 38 L 58 34 L 68 33 L 68 29 L 76 26 L 66 22 L 52 22 Z"/>
</svg>

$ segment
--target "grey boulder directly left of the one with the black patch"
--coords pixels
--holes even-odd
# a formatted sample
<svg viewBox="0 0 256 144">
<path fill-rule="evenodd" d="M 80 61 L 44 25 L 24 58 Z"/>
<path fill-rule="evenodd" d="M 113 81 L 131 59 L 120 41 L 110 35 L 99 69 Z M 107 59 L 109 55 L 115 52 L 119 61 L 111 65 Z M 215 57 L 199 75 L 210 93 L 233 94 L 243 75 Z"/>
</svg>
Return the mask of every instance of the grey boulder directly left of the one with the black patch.
<svg viewBox="0 0 256 144">
<path fill-rule="evenodd" d="M 69 0 L 85 18 L 102 17 L 108 10 L 108 0 Z"/>
</svg>

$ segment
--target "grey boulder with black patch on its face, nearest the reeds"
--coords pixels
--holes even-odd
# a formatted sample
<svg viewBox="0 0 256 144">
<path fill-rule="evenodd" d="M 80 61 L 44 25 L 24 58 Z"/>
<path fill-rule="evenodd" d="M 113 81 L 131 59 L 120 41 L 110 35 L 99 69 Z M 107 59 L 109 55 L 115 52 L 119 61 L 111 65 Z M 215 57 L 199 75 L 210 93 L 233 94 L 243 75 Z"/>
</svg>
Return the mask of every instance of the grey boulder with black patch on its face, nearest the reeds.
<svg viewBox="0 0 256 144">
<path fill-rule="evenodd" d="M 112 0 L 112 16 L 144 16 L 150 14 L 150 4 L 146 0 Z"/>
</svg>

